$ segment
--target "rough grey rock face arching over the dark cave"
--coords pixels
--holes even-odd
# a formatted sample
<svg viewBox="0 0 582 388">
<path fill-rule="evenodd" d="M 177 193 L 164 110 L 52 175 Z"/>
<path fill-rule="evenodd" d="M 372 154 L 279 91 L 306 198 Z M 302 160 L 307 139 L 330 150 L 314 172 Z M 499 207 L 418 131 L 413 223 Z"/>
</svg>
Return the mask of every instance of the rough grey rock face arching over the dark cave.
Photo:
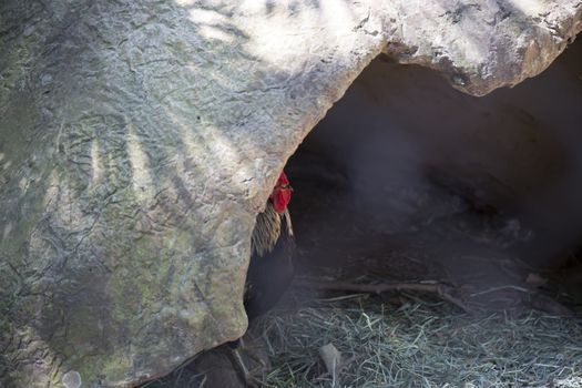
<svg viewBox="0 0 582 388">
<path fill-rule="evenodd" d="M 242 335 L 287 157 L 380 52 L 481 95 L 582 0 L 0 4 L 0 386 L 123 386 Z"/>
</svg>

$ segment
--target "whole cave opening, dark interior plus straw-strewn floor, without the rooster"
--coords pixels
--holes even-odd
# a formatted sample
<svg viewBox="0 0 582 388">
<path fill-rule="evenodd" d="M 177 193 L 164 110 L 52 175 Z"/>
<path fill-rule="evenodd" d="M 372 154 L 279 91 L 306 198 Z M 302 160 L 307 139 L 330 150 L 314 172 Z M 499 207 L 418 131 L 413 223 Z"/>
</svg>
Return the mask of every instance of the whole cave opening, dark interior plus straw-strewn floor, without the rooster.
<svg viewBox="0 0 582 388">
<path fill-rule="evenodd" d="M 285 167 L 284 297 L 151 387 L 580 386 L 581 69 L 474 98 L 374 60 Z"/>
</svg>

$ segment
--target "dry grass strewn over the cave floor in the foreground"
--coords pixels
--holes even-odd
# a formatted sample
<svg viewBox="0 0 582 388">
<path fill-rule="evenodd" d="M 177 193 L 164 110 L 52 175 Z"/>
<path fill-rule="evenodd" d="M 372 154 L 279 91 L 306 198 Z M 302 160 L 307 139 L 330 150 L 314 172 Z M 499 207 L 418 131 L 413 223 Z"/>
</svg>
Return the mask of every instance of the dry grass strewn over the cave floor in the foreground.
<svg viewBox="0 0 582 388">
<path fill-rule="evenodd" d="M 582 326 L 529 310 L 469 316 L 441 302 L 400 307 L 359 295 L 298 312 L 278 310 L 261 329 L 270 387 L 582 387 Z M 344 368 L 329 376 L 319 347 Z"/>
</svg>

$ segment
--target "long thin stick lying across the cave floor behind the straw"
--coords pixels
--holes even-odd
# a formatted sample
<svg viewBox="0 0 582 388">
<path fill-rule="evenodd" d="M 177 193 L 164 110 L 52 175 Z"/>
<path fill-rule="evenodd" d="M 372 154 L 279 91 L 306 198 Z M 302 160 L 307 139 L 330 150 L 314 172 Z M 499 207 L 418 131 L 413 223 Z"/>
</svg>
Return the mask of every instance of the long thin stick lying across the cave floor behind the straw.
<svg viewBox="0 0 582 388">
<path fill-rule="evenodd" d="M 437 294 L 440 298 L 453 304 L 466 313 L 469 313 L 467 306 L 459 299 L 453 297 L 451 292 L 453 287 L 443 284 L 422 284 L 422 283 L 380 283 L 380 284 L 359 284 L 347 282 L 328 282 L 320 283 L 315 280 L 297 279 L 294 282 L 295 286 L 305 288 L 315 288 L 324 290 L 338 292 L 354 292 L 366 294 L 381 294 L 386 292 L 418 292 Z"/>
</svg>

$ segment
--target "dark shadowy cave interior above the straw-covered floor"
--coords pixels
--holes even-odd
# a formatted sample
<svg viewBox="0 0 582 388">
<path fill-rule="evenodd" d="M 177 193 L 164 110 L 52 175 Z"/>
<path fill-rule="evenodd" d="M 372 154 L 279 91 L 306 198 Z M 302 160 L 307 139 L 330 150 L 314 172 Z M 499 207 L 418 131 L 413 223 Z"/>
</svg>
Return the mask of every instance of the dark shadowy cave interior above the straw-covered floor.
<svg viewBox="0 0 582 388">
<path fill-rule="evenodd" d="M 288 162 L 299 276 L 559 308 L 530 289 L 582 242 L 580 69 L 579 41 L 535 79 L 473 98 L 376 59 Z M 582 276 L 565 274 L 548 286 L 582 302 Z"/>
</svg>

